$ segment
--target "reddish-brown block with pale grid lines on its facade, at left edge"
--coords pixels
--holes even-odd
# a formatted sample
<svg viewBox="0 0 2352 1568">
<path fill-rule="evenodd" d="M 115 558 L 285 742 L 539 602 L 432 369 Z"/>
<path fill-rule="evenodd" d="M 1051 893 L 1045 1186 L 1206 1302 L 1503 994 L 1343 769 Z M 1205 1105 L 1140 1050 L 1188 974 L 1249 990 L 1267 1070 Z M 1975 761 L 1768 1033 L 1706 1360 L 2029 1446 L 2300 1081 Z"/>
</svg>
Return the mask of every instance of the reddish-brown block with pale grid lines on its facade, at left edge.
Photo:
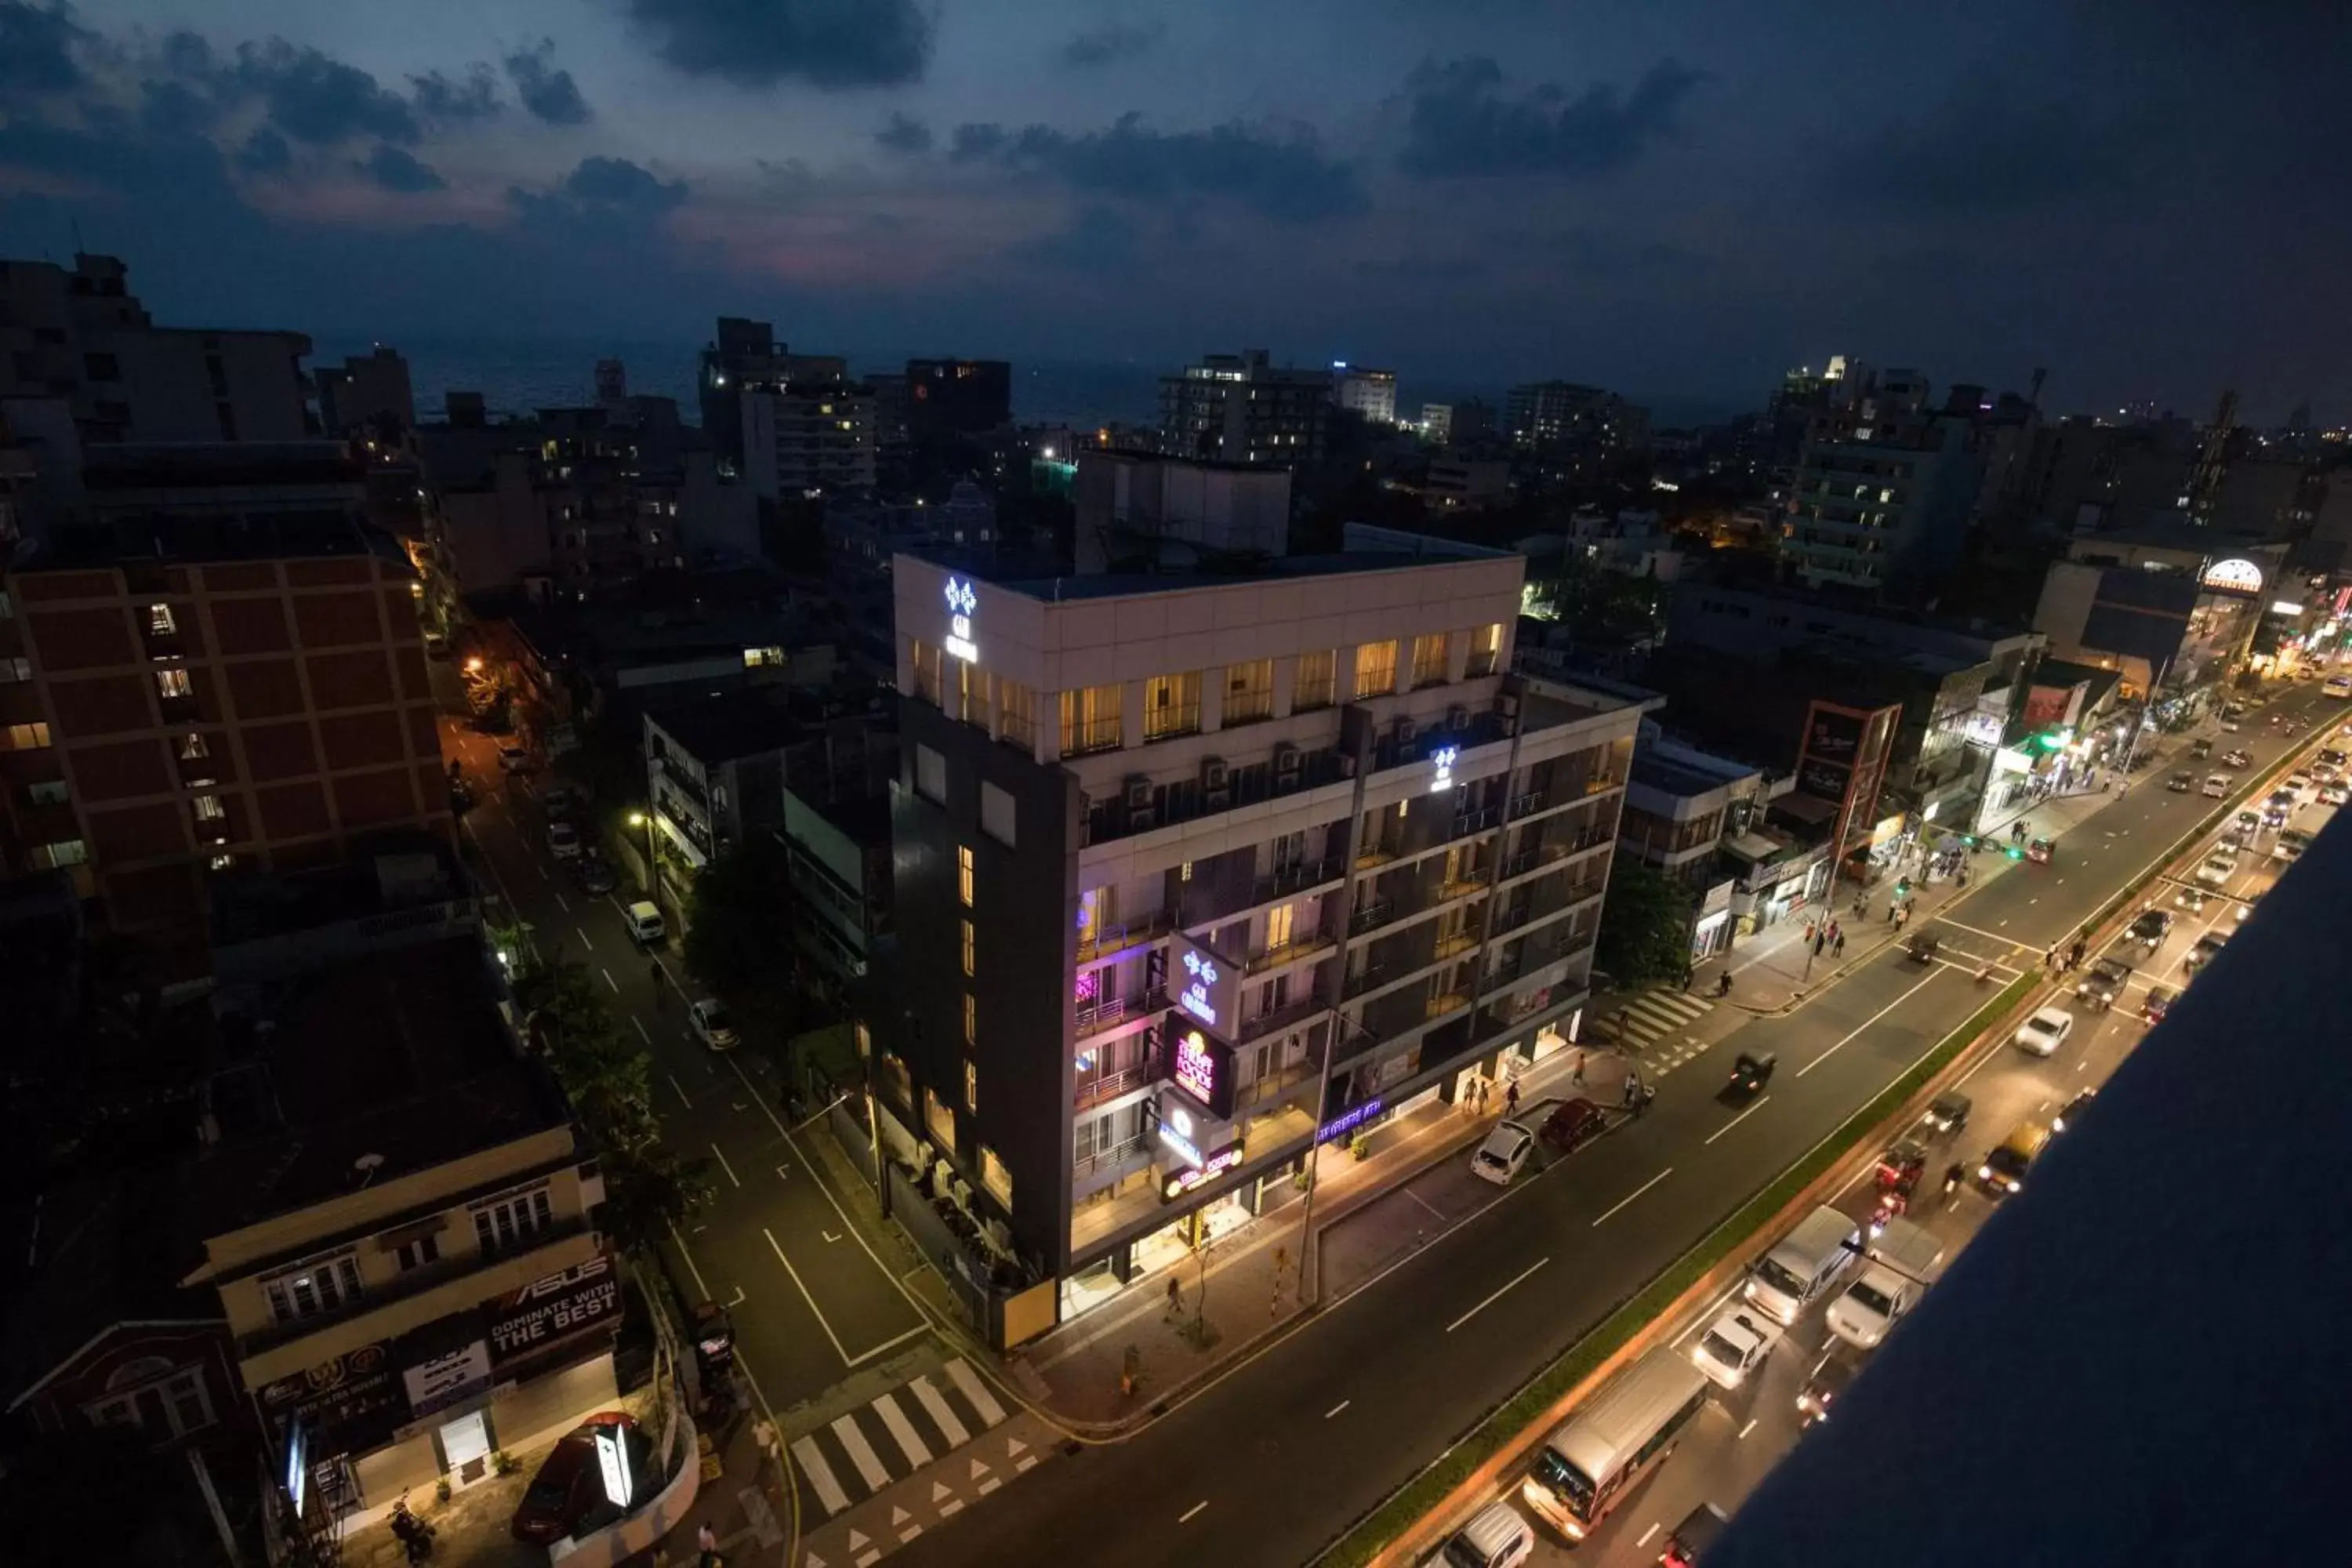
<svg viewBox="0 0 2352 1568">
<path fill-rule="evenodd" d="M 12 870 L 73 867 L 118 931 L 212 877 L 449 835 L 416 574 L 339 447 L 118 447 L 0 574 Z"/>
</svg>

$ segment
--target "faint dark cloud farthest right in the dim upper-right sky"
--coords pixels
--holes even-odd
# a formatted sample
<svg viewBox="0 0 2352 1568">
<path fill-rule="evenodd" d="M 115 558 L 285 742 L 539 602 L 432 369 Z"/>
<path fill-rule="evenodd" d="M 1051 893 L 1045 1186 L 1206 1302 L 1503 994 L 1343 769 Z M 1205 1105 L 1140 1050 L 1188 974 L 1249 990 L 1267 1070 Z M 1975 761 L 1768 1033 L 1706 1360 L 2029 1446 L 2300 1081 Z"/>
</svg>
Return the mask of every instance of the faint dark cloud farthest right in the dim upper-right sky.
<svg viewBox="0 0 2352 1568">
<path fill-rule="evenodd" d="M 1990 73 L 1828 160 L 1825 193 L 1905 212 L 1994 214 L 2138 183 L 2161 127 L 2124 134 L 2089 106 L 2020 96 Z"/>
</svg>

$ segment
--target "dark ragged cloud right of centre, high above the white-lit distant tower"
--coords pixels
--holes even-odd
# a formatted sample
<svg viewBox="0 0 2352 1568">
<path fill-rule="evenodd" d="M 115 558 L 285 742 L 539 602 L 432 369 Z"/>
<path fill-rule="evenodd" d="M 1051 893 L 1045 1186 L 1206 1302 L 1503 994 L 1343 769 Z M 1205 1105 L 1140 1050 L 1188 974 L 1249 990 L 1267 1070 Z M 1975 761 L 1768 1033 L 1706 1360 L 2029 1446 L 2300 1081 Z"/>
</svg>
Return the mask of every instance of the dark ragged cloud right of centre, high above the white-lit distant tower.
<svg viewBox="0 0 2352 1568">
<path fill-rule="evenodd" d="M 1428 176 L 1606 174 L 1670 136 L 1684 99 L 1705 80 L 1663 59 L 1632 92 L 1592 82 L 1569 96 L 1541 82 L 1512 99 L 1489 56 L 1423 61 L 1406 82 L 1411 110 L 1397 167 Z"/>
</svg>

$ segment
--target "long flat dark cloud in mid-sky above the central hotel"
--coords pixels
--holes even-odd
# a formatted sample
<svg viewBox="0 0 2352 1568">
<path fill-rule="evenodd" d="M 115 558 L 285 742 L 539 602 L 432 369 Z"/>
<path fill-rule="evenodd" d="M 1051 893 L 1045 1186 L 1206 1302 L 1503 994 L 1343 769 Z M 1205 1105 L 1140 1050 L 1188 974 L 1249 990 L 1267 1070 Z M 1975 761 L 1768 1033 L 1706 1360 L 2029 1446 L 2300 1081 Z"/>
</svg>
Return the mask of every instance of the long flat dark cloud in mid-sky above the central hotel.
<svg viewBox="0 0 2352 1568">
<path fill-rule="evenodd" d="M 1303 125 L 1232 120 L 1204 132 L 1152 132 L 1143 115 L 1070 136 L 1049 125 L 1007 134 L 995 125 L 955 127 L 953 158 L 995 158 L 1004 167 L 1054 174 L 1103 197 L 1216 197 L 1268 219 L 1312 221 L 1362 212 L 1355 165 L 1324 155 Z"/>
</svg>

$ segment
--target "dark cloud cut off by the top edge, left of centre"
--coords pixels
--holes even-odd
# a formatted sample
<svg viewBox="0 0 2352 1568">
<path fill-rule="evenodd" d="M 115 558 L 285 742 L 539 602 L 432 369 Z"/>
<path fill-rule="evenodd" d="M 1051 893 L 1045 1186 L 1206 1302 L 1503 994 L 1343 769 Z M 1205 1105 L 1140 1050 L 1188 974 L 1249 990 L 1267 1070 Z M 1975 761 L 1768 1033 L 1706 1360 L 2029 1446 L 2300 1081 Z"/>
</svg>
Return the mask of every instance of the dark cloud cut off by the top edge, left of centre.
<svg viewBox="0 0 2352 1568">
<path fill-rule="evenodd" d="M 628 19 L 670 66 L 741 87 L 891 87 L 931 63 L 917 0 L 628 0 Z"/>
</svg>

